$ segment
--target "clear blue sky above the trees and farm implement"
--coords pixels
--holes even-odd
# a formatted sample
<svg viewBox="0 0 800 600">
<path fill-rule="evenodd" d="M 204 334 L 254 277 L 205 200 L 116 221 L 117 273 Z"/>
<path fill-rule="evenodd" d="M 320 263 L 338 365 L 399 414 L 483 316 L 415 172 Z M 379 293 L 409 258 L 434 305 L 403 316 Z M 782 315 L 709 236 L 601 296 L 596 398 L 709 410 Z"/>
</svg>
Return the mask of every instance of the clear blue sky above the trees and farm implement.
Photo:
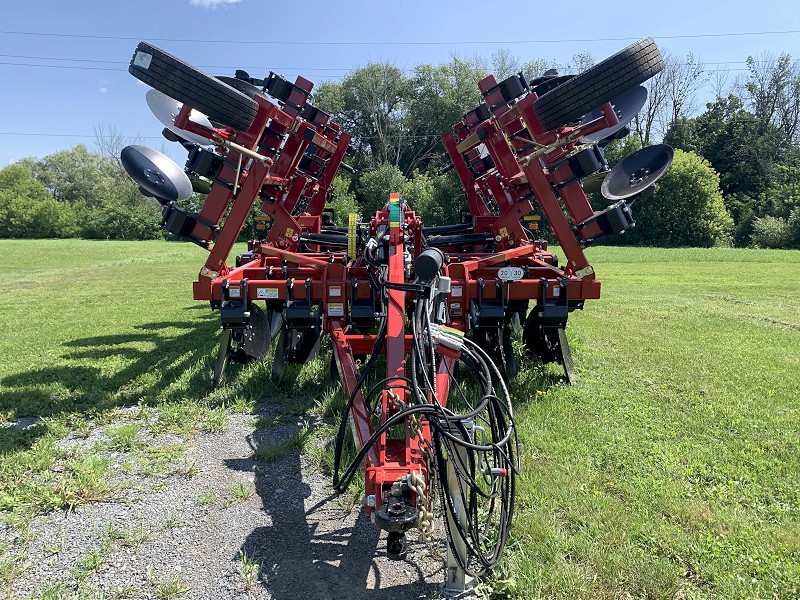
<svg viewBox="0 0 800 600">
<path fill-rule="evenodd" d="M 719 35 L 753 33 L 761 35 Z M 211 74 L 246 68 L 319 82 L 370 61 L 410 69 L 501 48 L 521 60 L 565 62 L 581 51 L 600 60 L 648 35 L 664 51 L 693 52 L 709 70 L 742 74 L 748 55 L 800 58 L 800 3 L 4 0 L 0 167 L 78 143 L 94 149 L 100 125 L 162 147 L 147 88 L 127 73 L 139 40 Z"/>
</svg>

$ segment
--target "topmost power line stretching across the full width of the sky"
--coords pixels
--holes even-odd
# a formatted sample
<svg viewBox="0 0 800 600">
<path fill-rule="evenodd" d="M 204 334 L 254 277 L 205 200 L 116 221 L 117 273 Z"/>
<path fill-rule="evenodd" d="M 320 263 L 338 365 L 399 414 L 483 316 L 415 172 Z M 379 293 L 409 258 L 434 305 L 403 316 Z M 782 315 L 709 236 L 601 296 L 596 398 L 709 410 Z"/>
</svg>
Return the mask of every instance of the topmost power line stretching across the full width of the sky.
<svg viewBox="0 0 800 600">
<path fill-rule="evenodd" d="M 696 39 L 696 38 L 719 38 L 719 37 L 745 37 L 745 36 L 764 36 L 764 35 L 786 35 L 800 33 L 800 29 L 790 29 L 785 31 L 737 31 L 723 33 L 696 33 L 681 35 L 660 35 L 655 36 L 662 40 L 676 39 Z M 60 38 L 80 38 L 95 40 L 123 40 L 136 41 L 142 37 L 116 36 L 116 35 L 89 35 L 80 33 L 43 33 L 40 31 L 0 31 L 3 35 L 29 35 L 39 37 L 60 37 Z M 145 36 L 146 37 L 146 36 Z M 393 41 L 374 41 L 374 42 L 320 42 L 320 41 L 301 41 L 301 40 L 219 40 L 219 39 L 182 39 L 182 38 L 148 38 L 153 42 L 178 42 L 192 44 L 262 44 L 262 45 L 282 45 L 282 46 L 460 46 L 460 45 L 509 45 L 509 44 L 566 44 L 566 43 L 589 43 L 589 42 L 624 42 L 635 41 L 636 37 L 602 37 L 602 38 L 583 38 L 583 39 L 549 39 L 549 40 L 454 40 L 454 41 L 424 41 L 424 42 L 404 42 Z"/>
</svg>

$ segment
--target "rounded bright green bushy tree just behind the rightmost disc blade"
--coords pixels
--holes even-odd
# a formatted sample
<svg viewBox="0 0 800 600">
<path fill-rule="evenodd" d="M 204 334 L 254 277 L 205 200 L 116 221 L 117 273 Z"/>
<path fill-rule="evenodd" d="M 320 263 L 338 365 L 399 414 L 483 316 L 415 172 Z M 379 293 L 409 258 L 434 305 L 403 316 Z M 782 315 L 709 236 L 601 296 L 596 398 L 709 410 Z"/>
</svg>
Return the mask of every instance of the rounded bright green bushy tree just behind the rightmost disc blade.
<svg viewBox="0 0 800 600">
<path fill-rule="evenodd" d="M 725 210 L 719 175 L 693 152 L 675 151 L 656 191 L 633 206 L 636 227 L 627 241 L 644 246 L 727 245 L 733 222 Z"/>
</svg>

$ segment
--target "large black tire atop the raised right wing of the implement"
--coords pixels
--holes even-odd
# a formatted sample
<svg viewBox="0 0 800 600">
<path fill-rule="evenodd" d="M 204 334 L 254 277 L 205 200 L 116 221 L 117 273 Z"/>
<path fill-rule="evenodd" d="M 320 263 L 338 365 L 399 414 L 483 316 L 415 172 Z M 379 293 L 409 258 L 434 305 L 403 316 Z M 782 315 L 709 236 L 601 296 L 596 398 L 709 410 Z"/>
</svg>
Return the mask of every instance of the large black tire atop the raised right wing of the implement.
<svg viewBox="0 0 800 600">
<path fill-rule="evenodd" d="M 533 109 L 547 130 L 580 119 L 664 68 L 653 38 L 644 38 L 547 92 Z"/>
</svg>

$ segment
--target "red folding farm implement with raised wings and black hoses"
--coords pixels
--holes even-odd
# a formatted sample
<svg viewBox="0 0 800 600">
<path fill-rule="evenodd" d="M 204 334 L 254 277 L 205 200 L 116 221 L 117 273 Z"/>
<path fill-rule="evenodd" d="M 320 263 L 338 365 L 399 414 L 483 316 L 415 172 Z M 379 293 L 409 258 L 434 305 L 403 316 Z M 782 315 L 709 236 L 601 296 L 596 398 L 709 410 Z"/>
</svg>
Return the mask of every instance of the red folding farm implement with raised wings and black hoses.
<svg viewBox="0 0 800 600">
<path fill-rule="evenodd" d="M 334 487 L 363 473 L 364 510 L 387 530 L 392 558 L 405 556 L 406 531 L 431 538 L 438 490 L 451 587 L 499 560 L 511 524 L 512 335 L 574 379 L 567 319 L 600 297 L 584 248 L 631 227 L 632 202 L 671 162 L 669 147 L 653 146 L 609 170 L 602 151 L 627 134 L 640 84 L 662 67 L 645 39 L 578 76 L 486 77 L 481 104 L 442 135 L 466 196 L 461 222 L 426 227 L 387 190 L 383 209 L 336 226 L 325 203 L 350 136 L 310 103 L 311 82 L 215 78 L 144 42 L 131 61 L 155 88 L 148 103 L 165 137 L 189 157 L 181 169 L 129 146 L 122 161 L 162 204 L 162 226 L 208 252 L 194 297 L 221 317 L 215 383 L 230 361 L 270 346 L 280 378 L 328 334 L 347 400 Z M 594 210 L 590 186 L 614 203 Z M 177 204 L 193 190 L 208 193 L 199 213 Z M 254 209 L 257 235 L 230 265 Z M 542 217 L 563 264 L 535 235 Z M 344 465 L 348 425 L 356 450 Z"/>
</svg>

